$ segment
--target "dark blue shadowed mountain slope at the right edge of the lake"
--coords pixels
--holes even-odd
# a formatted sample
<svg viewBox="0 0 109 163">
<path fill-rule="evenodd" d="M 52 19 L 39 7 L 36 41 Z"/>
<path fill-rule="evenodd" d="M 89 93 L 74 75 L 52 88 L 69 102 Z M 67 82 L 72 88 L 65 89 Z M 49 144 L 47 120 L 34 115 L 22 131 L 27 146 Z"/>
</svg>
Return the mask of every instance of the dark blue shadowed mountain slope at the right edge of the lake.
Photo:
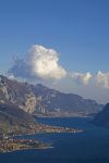
<svg viewBox="0 0 109 163">
<path fill-rule="evenodd" d="M 109 103 L 105 105 L 102 111 L 100 111 L 93 121 L 94 124 L 102 127 L 109 128 Z"/>
</svg>

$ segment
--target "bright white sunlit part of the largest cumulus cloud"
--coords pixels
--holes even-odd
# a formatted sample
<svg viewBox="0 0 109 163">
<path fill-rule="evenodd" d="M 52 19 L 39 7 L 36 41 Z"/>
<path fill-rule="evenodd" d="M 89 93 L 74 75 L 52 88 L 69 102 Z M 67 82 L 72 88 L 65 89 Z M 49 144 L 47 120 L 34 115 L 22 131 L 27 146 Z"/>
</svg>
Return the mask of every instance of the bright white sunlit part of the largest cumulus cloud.
<svg viewBox="0 0 109 163">
<path fill-rule="evenodd" d="M 53 49 L 35 45 L 28 52 L 27 62 L 32 67 L 32 73 L 41 78 L 60 79 L 66 74 L 58 63 L 59 54 Z"/>
</svg>

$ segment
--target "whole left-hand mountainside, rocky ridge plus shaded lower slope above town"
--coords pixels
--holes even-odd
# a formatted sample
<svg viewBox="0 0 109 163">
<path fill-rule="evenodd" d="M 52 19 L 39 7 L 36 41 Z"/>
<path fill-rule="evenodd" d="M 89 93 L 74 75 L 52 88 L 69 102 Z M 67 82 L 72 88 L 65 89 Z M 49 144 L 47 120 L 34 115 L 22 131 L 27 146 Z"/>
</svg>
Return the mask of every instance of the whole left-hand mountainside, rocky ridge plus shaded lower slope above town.
<svg viewBox="0 0 109 163">
<path fill-rule="evenodd" d="M 33 133 L 36 126 L 34 116 L 85 116 L 99 112 L 101 108 L 96 101 L 77 95 L 0 75 L 0 135 Z"/>
</svg>

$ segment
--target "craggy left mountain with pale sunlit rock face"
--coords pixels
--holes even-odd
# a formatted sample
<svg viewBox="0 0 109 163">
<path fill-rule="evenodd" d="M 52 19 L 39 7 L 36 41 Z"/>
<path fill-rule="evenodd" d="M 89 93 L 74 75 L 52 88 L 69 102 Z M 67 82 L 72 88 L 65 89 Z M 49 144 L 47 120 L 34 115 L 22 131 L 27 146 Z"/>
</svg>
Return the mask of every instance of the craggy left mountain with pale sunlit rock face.
<svg viewBox="0 0 109 163">
<path fill-rule="evenodd" d="M 5 102 L 13 103 L 32 114 L 36 109 L 37 98 L 29 85 L 0 76 L 0 103 Z"/>
</svg>

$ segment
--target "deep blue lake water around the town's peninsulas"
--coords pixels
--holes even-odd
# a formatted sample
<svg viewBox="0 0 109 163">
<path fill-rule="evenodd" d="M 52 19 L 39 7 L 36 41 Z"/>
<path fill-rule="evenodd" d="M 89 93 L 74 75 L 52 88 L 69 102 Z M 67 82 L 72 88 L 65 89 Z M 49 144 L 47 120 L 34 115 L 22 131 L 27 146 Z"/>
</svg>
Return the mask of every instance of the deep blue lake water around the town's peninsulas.
<svg viewBox="0 0 109 163">
<path fill-rule="evenodd" d="M 84 129 L 78 134 L 37 134 L 25 136 L 55 148 L 0 154 L 0 163 L 109 163 L 109 129 L 97 127 L 89 118 L 38 118 L 38 122 Z"/>
</svg>

